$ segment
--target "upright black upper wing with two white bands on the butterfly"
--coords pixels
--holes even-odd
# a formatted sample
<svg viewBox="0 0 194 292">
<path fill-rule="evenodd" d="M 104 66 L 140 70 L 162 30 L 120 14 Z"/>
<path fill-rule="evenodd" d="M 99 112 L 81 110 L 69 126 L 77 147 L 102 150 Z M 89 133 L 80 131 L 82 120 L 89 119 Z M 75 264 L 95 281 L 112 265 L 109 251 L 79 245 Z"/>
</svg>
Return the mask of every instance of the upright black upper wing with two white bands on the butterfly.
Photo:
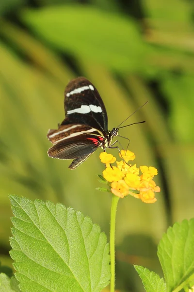
<svg viewBox="0 0 194 292">
<path fill-rule="evenodd" d="M 104 103 L 95 86 L 85 77 L 71 80 L 65 89 L 65 120 L 61 125 L 84 124 L 108 131 Z"/>
</svg>

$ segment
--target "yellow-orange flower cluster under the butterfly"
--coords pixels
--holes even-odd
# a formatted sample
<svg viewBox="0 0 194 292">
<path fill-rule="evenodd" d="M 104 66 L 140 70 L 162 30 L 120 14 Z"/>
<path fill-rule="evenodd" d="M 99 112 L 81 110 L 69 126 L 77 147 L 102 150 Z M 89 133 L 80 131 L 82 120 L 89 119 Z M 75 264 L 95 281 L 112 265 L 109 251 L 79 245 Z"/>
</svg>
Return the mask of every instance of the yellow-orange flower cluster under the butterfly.
<svg viewBox="0 0 194 292">
<path fill-rule="evenodd" d="M 123 159 L 120 162 L 112 154 L 100 153 L 100 160 L 106 164 L 103 171 L 104 179 L 110 183 L 111 192 L 119 198 L 131 195 L 141 199 L 145 203 L 156 201 L 155 192 L 160 192 L 159 186 L 153 181 L 158 170 L 152 166 L 140 166 L 128 164 L 129 160 L 134 160 L 135 155 L 129 150 L 121 150 L 119 154 Z M 117 166 L 112 166 L 116 161 Z M 141 172 L 141 173 L 140 173 Z"/>
</svg>

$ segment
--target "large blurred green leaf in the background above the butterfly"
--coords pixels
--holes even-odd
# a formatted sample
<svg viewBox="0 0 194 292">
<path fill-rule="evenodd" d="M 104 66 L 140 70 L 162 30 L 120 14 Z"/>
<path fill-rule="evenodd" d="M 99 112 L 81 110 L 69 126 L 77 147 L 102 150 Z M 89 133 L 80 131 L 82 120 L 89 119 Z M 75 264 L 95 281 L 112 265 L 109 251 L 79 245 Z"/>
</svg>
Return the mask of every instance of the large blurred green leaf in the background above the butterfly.
<svg viewBox="0 0 194 292">
<path fill-rule="evenodd" d="M 26 10 L 22 18 L 53 47 L 81 59 L 124 71 L 141 70 L 144 64 L 148 47 L 129 17 L 87 5 L 64 5 Z"/>
</svg>

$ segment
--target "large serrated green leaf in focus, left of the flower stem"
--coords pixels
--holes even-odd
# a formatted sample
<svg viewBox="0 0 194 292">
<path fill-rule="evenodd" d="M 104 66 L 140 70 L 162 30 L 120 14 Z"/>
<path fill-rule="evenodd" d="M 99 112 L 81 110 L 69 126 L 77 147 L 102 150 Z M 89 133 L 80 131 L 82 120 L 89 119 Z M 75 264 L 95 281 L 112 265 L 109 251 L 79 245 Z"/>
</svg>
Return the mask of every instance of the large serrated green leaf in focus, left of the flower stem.
<svg viewBox="0 0 194 292">
<path fill-rule="evenodd" d="M 108 285 L 109 245 L 97 224 L 63 204 L 10 200 L 10 255 L 21 291 L 98 292 Z"/>
</svg>

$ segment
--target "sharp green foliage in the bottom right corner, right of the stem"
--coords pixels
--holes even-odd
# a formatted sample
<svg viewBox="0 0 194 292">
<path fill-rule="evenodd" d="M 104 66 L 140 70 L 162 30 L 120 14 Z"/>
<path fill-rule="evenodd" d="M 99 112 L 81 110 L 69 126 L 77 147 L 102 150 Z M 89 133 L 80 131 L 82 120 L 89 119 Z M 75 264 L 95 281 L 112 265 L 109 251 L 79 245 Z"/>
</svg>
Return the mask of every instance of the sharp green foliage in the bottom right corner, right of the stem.
<svg viewBox="0 0 194 292">
<path fill-rule="evenodd" d="M 141 266 L 135 266 L 147 292 L 188 291 L 194 285 L 194 219 L 169 227 L 158 246 L 163 278 Z"/>
</svg>

